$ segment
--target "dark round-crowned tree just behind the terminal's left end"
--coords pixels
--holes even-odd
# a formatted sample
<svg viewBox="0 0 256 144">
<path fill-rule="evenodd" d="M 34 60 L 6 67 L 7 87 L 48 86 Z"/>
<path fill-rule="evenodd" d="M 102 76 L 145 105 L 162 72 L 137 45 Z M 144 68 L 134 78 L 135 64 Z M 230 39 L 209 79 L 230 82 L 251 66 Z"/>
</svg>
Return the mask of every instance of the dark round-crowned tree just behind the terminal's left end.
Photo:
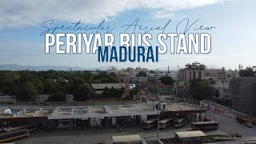
<svg viewBox="0 0 256 144">
<path fill-rule="evenodd" d="M 32 82 L 26 82 L 17 90 L 16 99 L 23 102 L 34 102 L 38 95 L 38 88 Z"/>
</svg>

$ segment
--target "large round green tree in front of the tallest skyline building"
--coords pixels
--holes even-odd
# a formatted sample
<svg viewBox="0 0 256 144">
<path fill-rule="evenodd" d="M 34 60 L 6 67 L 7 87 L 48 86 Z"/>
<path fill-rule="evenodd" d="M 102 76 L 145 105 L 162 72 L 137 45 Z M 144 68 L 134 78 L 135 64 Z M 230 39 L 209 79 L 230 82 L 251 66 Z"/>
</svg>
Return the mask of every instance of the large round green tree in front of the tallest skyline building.
<svg viewBox="0 0 256 144">
<path fill-rule="evenodd" d="M 202 79 L 193 79 L 190 81 L 190 95 L 194 100 L 202 101 L 210 98 L 213 94 L 213 87 Z"/>
</svg>

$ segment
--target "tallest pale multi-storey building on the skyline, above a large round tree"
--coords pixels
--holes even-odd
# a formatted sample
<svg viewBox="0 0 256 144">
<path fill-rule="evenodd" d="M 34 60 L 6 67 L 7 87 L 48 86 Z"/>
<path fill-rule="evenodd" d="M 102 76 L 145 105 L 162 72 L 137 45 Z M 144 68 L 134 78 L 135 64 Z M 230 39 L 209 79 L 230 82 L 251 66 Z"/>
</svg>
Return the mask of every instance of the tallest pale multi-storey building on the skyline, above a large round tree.
<svg viewBox="0 0 256 144">
<path fill-rule="evenodd" d="M 202 79 L 205 76 L 205 72 L 206 66 L 199 62 L 188 63 L 185 68 L 179 70 L 179 81 L 185 82 L 185 84 L 189 86 L 191 79 Z"/>
</svg>

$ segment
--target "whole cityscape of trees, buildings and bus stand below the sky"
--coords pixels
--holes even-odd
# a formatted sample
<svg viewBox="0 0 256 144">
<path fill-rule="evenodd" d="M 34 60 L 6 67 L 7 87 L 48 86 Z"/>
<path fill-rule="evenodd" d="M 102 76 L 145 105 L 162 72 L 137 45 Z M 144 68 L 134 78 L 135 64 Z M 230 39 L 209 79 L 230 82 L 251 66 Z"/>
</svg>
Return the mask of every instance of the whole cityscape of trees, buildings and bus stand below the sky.
<svg viewBox="0 0 256 144">
<path fill-rule="evenodd" d="M 256 141 L 255 66 L 169 67 L 2 70 L 0 142 Z"/>
</svg>

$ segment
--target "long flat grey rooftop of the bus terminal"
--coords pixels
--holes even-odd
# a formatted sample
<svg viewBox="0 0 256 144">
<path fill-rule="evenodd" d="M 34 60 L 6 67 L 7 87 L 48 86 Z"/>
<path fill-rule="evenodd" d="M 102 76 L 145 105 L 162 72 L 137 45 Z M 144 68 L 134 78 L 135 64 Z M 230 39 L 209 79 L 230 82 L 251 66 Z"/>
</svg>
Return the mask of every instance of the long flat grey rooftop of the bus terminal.
<svg viewBox="0 0 256 144">
<path fill-rule="evenodd" d="M 111 116 L 130 116 L 130 115 L 153 115 L 157 114 L 155 106 L 147 103 L 134 105 L 110 105 L 110 106 L 13 106 L 1 107 L 0 119 L 2 118 L 93 118 Z M 198 106 L 186 103 L 166 104 L 166 109 L 162 111 L 201 111 Z"/>
</svg>

